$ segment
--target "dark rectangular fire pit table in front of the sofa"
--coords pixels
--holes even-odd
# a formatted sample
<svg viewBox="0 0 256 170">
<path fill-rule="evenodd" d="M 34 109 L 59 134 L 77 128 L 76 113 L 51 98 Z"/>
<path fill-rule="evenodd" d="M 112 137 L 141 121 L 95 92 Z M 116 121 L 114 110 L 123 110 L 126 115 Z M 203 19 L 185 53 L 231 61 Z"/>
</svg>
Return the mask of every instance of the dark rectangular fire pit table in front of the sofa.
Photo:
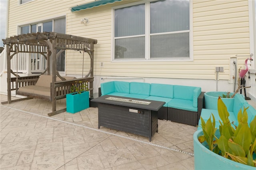
<svg viewBox="0 0 256 170">
<path fill-rule="evenodd" d="M 151 137 L 158 132 L 157 111 L 165 104 L 161 101 L 104 95 L 91 101 L 98 103 L 100 126 Z"/>
</svg>

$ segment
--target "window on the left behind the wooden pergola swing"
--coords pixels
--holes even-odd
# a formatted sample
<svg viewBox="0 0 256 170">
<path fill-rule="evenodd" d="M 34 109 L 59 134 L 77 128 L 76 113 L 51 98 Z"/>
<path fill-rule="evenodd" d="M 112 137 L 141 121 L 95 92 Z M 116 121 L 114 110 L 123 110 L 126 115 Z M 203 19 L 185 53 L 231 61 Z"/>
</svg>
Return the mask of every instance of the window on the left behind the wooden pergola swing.
<svg viewBox="0 0 256 170">
<path fill-rule="evenodd" d="M 28 34 L 33 32 L 58 32 L 62 34 L 66 34 L 66 18 L 58 18 L 54 20 L 49 20 L 47 22 L 38 22 L 36 24 L 30 24 L 27 26 L 20 27 L 20 34 Z M 58 52 L 58 51 L 57 51 Z M 35 54 L 36 55 L 36 54 Z M 34 60 L 37 58 L 39 62 L 40 55 L 32 56 Z M 36 67 L 36 62 L 35 66 Z M 39 64 L 37 65 L 37 69 L 39 69 Z M 63 51 L 57 59 L 57 70 L 65 71 L 65 51 Z"/>
</svg>

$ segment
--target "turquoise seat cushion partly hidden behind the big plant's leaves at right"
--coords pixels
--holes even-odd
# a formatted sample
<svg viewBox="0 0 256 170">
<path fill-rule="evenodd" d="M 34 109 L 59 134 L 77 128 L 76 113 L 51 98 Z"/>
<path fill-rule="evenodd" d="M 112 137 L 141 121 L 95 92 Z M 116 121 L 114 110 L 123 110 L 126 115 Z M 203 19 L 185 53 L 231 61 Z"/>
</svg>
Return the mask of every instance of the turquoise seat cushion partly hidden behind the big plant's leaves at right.
<svg viewBox="0 0 256 170">
<path fill-rule="evenodd" d="M 234 112 L 228 112 L 229 113 L 229 121 L 230 123 L 234 122 L 235 125 L 238 125 L 238 122 L 237 122 L 237 118 L 234 114 Z M 222 122 L 222 120 L 220 119 L 220 116 L 219 116 L 219 113 L 217 110 L 212 110 L 212 109 L 202 109 L 202 112 L 201 112 L 201 117 L 204 119 L 204 121 L 206 122 L 211 115 L 214 115 L 214 118 L 215 118 L 215 124 L 219 123 L 219 120 Z M 212 117 L 211 117 L 211 120 Z M 219 124 L 218 124 L 219 126 Z M 218 127 L 218 126 L 215 126 L 215 127 Z"/>
</svg>

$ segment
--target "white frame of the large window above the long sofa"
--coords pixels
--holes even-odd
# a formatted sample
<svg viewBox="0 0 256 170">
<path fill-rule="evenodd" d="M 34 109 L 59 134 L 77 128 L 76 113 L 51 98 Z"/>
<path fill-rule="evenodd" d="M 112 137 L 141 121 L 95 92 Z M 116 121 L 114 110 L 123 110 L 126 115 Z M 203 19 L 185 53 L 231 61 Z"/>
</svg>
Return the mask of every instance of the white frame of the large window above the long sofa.
<svg viewBox="0 0 256 170">
<path fill-rule="evenodd" d="M 129 4 L 124 4 L 120 6 L 112 7 L 112 31 L 111 31 L 111 62 L 134 62 L 134 61 L 194 61 L 194 53 L 193 53 L 193 2 L 189 1 L 190 5 L 190 30 L 189 30 L 189 50 L 190 50 L 190 58 L 189 59 L 179 59 L 179 58 L 150 58 L 150 36 L 151 35 L 164 35 L 170 34 L 170 32 L 164 33 L 154 33 L 150 34 L 150 2 L 154 2 L 156 0 L 144 0 L 140 2 L 133 2 Z M 115 46 L 114 46 L 114 11 L 119 8 L 125 8 L 128 6 L 134 6 L 138 4 L 145 4 L 145 57 L 143 59 L 115 59 Z M 178 32 L 171 32 L 171 34 L 175 33 L 184 33 L 186 31 L 178 31 Z M 141 36 L 141 35 L 139 35 Z M 129 36 L 129 38 L 138 37 L 138 36 Z M 124 38 L 124 37 L 122 37 Z"/>
</svg>

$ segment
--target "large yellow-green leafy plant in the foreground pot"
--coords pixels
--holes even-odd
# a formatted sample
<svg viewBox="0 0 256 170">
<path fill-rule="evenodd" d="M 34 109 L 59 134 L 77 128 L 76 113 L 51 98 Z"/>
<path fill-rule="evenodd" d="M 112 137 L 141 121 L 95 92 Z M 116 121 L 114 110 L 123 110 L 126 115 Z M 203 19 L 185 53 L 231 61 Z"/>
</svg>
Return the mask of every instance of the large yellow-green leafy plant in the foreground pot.
<svg viewBox="0 0 256 170">
<path fill-rule="evenodd" d="M 229 113 L 221 98 L 218 98 L 218 113 L 220 116 L 220 137 L 216 137 L 215 118 L 213 122 L 208 119 L 206 122 L 202 119 L 203 135 L 198 137 L 202 143 L 207 142 L 209 149 L 216 154 L 224 156 L 230 160 L 256 167 L 256 159 L 253 160 L 253 154 L 256 154 L 256 117 L 248 125 L 247 108 L 238 112 L 238 126 L 232 127 L 232 122 L 228 119 Z"/>
</svg>

